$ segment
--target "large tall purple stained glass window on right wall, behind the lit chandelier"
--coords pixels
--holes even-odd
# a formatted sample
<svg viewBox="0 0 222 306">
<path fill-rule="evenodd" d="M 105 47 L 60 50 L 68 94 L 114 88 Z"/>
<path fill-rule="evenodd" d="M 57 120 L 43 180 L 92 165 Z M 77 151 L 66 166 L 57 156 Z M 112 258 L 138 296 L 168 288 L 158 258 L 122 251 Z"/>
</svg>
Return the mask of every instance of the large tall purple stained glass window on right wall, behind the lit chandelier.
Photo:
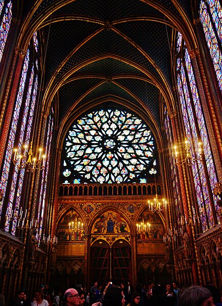
<svg viewBox="0 0 222 306">
<path fill-rule="evenodd" d="M 180 44 L 184 47 L 183 59 L 182 57 L 177 59 L 177 86 L 179 89 L 186 136 L 193 157 L 198 157 L 199 141 L 201 140 L 207 164 L 208 176 L 206 176 L 203 163 L 192 163 L 199 214 L 201 216 L 203 231 L 206 231 L 214 225 L 209 194 L 214 198 L 215 208 L 218 209 L 216 198 L 213 194 L 213 187 L 215 186 L 217 179 L 191 59 L 186 48 L 186 43 L 184 41 L 181 42 L 181 35 L 179 35 L 178 38 L 177 50 Z M 185 66 L 183 65 L 183 60 L 185 61 Z M 197 125 L 195 124 L 195 121 L 197 122 Z M 201 139 L 198 139 L 198 135 Z M 211 190 L 208 189 L 209 184 Z"/>
</svg>

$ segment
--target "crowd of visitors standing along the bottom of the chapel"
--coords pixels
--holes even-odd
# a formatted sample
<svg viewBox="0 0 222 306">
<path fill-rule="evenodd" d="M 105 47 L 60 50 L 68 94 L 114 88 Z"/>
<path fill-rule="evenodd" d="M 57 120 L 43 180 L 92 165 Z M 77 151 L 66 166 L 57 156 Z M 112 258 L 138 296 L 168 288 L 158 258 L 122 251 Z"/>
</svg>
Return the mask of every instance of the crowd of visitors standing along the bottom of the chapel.
<svg viewBox="0 0 222 306">
<path fill-rule="evenodd" d="M 0 306 L 8 306 L 3 294 Z M 104 289 L 95 281 L 90 290 L 78 286 L 63 294 L 61 290 L 54 294 L 48 285 L 41 285 L 31 301 L 25 289 L 20 289 L 10 306 L 222 306 L 222 300 L 220 291 L 211 284 L 180 289 L 177 281 L 165 286 L 149 281 L 147 288 L 138 285 L 134 290 L 129 281 L 126 285 L 109 281 Z"/>
</svg>

